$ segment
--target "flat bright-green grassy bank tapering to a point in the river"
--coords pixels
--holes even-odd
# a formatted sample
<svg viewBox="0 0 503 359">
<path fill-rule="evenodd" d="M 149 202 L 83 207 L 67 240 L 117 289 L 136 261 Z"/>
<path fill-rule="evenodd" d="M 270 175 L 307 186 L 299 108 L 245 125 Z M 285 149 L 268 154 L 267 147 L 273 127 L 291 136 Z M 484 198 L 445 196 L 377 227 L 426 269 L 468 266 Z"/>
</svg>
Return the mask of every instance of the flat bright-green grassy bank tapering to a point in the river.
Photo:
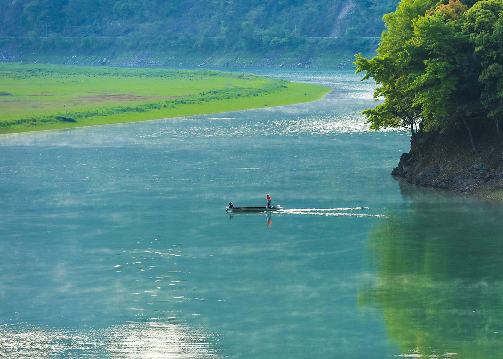
<svg viewBox="0 0 503 359">
<path fill-rule="evenodd" d="M 215 70 L 0 63 L 0 133 L 315 101 L 327 87 Z"/>
</svg>

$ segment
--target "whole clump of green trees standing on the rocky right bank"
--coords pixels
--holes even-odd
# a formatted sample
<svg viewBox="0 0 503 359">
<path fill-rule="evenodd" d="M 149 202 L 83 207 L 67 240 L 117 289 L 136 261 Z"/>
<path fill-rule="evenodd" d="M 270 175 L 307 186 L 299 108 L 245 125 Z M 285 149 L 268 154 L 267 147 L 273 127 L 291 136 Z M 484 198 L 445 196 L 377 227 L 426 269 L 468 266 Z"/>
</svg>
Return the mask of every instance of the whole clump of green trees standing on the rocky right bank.
<svg viewBox="0 0 503 359">
<path fill-rule="evenodd" d="M 406 127 L 421 151 L 418 130 L 475 127 L 495 131 L 503 116 L 503 1 L 402 0 L 384 16 L 378 55 L 357 55 L 357 72 L 373 78 L 376 100 L 364 111 L 370 128 Z"/>
</svg>

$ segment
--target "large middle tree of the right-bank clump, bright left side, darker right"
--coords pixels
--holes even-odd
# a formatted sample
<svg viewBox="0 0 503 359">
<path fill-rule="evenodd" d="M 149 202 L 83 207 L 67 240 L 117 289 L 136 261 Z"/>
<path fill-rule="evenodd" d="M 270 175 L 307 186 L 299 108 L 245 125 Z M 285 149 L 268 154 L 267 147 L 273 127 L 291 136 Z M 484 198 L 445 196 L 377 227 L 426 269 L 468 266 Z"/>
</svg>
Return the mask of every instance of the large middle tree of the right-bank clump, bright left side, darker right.
<svg viewBox="0 0 503 359">
<path fill-rule="evenodd" d="M 425 67 L 411 83 L 422 108 L 425 129 L 452 131 L 464 126 L 476 152 L 473 121 L 483 116 L 478 82 L 480 64 L 473 57 L 468 37 L 461 33 L 467 7 L 450 0 L 427 11 L 414 23 L 410 43 Z"/>
</svg>

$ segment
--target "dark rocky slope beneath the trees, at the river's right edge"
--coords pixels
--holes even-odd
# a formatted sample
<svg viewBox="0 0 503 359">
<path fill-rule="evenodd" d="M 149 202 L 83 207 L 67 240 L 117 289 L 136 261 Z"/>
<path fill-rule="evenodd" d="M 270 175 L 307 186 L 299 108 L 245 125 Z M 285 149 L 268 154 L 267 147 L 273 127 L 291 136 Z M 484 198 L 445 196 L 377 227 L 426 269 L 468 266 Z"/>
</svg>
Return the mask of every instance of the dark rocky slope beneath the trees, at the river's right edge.
<svg viewBox="0 0 503 359">
<path fill-rule="evenodd" d="M 411 142 L 391 174 L 413 185 L 503 200 L 503 146 L 496 134 L 478 138 L 475 153 L 464 133 L 422 137 L 423 155 Z"/>
</svg>

